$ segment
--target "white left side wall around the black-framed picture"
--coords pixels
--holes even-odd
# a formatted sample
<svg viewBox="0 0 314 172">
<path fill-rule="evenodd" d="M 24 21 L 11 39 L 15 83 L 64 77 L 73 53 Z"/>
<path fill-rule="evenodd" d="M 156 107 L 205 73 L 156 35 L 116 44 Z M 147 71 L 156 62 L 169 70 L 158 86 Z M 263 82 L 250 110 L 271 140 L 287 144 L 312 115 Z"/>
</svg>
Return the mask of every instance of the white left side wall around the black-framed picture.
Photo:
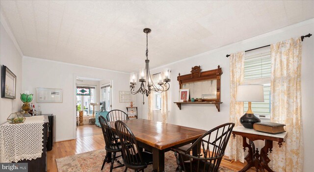
<svg viewBox="0 0 314 172">
<path fill-rule="evenodd" d="M 4 24 L 5 25 L 5 24 Z M 6 119 L 12 112 L 21 110 L 22 101 L 22 56 L 15 47 L 8 32 L 0 25 L 0 66 L 8 67 L 16 75 L 16 99 L 0 98 L 0 124 L 7 122 Z"/>
</svg>

